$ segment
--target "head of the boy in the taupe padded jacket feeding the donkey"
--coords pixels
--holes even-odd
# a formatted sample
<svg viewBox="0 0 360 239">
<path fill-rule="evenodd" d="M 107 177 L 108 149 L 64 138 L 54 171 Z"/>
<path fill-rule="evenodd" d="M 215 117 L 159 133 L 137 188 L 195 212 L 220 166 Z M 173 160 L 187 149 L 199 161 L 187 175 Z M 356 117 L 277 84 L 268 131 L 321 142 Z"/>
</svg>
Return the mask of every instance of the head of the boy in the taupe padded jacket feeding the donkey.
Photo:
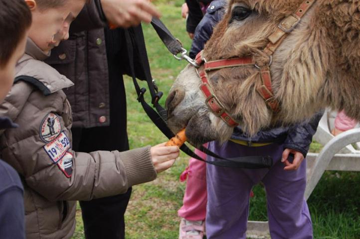
<svg viewBox="0 0 360 239">
<path fill-rule="evenodd" d="M 85 0 L 25 0 L 32 13 L 31 40 L 45 53 L 68 38 L 69 25 Z"/>
</svg>

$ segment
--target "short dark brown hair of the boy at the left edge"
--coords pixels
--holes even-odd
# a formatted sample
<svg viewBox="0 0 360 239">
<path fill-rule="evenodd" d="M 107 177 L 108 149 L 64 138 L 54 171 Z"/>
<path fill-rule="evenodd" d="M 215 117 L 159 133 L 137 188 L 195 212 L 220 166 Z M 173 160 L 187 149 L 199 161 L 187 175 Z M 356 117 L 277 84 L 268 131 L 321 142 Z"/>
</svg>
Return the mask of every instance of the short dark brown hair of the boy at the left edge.
<svg viewBox="0 0 360 239">
<path fill-rule="evenodd" d="M 24 0 L 0 0 L 0 6 L 0 67 L 3 67 L 30 27 L 32 18 Z"/>
</svg>

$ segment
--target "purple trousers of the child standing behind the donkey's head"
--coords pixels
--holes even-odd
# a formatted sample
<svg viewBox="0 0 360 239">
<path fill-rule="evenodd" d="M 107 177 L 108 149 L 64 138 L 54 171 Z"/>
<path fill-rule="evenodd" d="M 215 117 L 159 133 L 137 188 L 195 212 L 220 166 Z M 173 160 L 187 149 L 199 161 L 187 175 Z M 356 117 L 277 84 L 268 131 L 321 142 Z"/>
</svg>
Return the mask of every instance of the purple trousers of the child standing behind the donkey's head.
<svg viewBox="0 0 360 239">
<path fill-rule="evenodd" d="M 263 182 L 272 239 L 312 239 L 313 228 L 304 199 L 306 160 L 296 171 L 285 171 L 281 162 L 283 145 L 272 143 L 247 147 L 231 141 L 213 141 L 209 149 L 221 156 L 269 155 L 270 169 L 225 168 L 207 164 L 207 239 L 245 239 L 251 188 Z M 207 160 L 215 159 L 208 156 Z"/>
</svg>

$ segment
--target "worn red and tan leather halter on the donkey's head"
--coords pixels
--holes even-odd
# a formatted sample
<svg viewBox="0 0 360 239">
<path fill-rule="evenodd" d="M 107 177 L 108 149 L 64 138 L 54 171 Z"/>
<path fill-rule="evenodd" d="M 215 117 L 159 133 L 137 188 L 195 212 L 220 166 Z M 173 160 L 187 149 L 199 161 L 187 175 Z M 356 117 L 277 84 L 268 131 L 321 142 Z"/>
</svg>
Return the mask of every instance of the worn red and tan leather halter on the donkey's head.
<svg viewBox="0 0 360 239">
<path fill-rule="evenodd" d="M 215 96 L 213 90 L 209 85 L 207 78 L 207 72 L 219 70 L 222 68 L 229 67 L 239 67 L 239 66 L 249 66 L 252 65 L 259 69 L 259 73 L 262 80 L 262 85 L 256 89 L 259 95 L 265 100 L 267 106 L 274 112 L 277 113 L 280 110 L 279 101 L 275 98 L 272 83 L 271 83 L 271 73 L 270 65 L 272 62 L 272 55 L 284 39 L 289 35 L 290 32 L 297 26 L 305 13 L 310 9 L 310 7 L 315 3 L 316 0 L 305 0 L 301 3 L 298 9 L 293 12 L 291 15 L 285 17 L 278 27 L 275 29 L 268 37 L 269 43 L 266 45 L 263 52 L 269 57 L 269 64 L 265 66 L 257 66 L 253 57 L 240 57 L 240 58 L 230 58 L 222 60 L 208 61 L 202 57 L 202 51 L 196 55 L 195 62 L 200 67 L 204 65 L 204 68 L 198 72 L 199 77 L 201 78 L 202 84 L 200 89 L 206 97 L 206 105 L 209 107 L 211 112 L 220 117 L 225 121 L 229 126 L 236 127 L 238 123 L 235 119 L 227 113 L 221 102 Z"/>
</svg>

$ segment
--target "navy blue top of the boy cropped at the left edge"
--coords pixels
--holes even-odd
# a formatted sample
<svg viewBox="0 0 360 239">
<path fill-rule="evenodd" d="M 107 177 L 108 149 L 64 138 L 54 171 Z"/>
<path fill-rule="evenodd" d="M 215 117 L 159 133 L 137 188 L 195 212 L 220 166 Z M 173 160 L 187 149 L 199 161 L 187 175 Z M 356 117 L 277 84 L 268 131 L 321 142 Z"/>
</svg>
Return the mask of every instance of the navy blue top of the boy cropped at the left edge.
<svg viewBox="0 0 360 239">
<path fill-rule="evenodd" d="M 8 118 L 0 117 L 0 129 L 16 127 Z M 25 238 L 24 189 L 19 175 L 0 159 L 0 238 Z"/>
</svg>

